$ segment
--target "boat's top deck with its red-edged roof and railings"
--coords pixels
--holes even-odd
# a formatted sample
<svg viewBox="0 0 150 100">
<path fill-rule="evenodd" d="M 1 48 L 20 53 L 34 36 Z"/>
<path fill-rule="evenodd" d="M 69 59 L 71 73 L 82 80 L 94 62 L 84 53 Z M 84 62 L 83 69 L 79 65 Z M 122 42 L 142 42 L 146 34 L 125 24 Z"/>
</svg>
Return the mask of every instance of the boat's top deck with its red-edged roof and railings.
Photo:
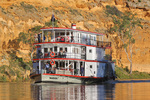
<svg viewBox="0 0 150 100">
<path fill-rule="evenodd" d="M 38 41 L 34 45 L 48 43 L 76 44 L 83 46 L 95 46 L 110 48 L 111 42 L 104 42 L 104 34 L 77 30 L 72 28 L 41 28 L 42 33 L 38 35 Z M 40 39 L 40 41 L 39 41 Z"/>
</svg>

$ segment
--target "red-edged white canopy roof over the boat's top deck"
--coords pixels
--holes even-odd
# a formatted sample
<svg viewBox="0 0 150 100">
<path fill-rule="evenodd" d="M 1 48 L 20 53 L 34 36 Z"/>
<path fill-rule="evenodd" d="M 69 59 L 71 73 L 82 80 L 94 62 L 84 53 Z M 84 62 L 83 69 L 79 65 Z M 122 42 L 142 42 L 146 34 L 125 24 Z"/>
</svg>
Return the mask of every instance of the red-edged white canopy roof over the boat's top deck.
<svg viewBox="0 0 150 100">
<path fill-rule="evenodd" d="M 97 33 L 97 32 L 90 32 L 90 31 L 84 31 L 84 30 L 78 30 L 78 29 L 72 29 L 72 28 L 61 28 L 61 27 L 47 27 L 47 28 L 41 28 L 42 31 L 57 31 L 57 30 L 64 30 L 64 31 L 73 31 L 73 32 L 83 32 L 91 35 L 104 35 L 102 33 Z"/>
</svg>

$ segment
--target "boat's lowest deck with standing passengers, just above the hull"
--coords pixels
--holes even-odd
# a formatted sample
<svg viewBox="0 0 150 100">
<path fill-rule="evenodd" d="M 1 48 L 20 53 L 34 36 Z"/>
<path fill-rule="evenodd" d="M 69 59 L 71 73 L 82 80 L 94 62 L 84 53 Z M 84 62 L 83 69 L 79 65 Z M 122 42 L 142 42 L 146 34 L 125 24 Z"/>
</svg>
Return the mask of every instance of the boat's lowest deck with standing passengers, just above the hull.
<svg viewBox="0 0 150 100">
<path fill-rule="evenodd" d="M 48 66 L 48 68 L 47 68 Z M 33 63 L 32 74 L 63 74 L 89 77 L 115 76 L 114 63 L 79 60 L 40 60 Z"/>
</svg>

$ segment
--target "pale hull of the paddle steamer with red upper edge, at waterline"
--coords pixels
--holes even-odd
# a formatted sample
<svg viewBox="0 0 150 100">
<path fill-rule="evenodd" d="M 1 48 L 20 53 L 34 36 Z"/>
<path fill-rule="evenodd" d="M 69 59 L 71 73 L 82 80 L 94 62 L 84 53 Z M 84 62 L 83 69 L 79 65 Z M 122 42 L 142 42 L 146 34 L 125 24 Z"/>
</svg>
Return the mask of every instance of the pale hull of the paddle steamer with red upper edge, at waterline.
<svg viewBox="0 0 150 100">
<path fill-rule="evenodd" d="M 112 78 L 100 78 L 100 77 L 86 77 L 86 76 L 75 76 L 75 75 L 63 75 L 63 74 L 38 74 L 31 75 L 35 82 L 52 82 L 52 83 L 75 83 L 75 84 L 91 84 L 100 83 L 107 80 L 112 80 Z"/>
</svg>

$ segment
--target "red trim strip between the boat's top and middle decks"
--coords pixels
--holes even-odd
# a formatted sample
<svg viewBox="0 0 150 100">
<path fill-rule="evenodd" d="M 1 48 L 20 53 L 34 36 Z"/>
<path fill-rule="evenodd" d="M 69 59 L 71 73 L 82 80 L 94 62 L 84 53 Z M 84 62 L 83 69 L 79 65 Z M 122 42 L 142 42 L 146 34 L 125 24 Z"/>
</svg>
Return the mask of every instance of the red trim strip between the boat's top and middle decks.
<svg viewBox="0 0 150 100">
<path fill-rule="evenodd" d="M 33 43 L 33 45 L 37 45 L 37 44 L 47 44 L 47 43 L 77 44 L 77 45 L 82 45 L 82 46 L 90 46 L 90 47 L 97 47 L 97 48 L 105 48 L 105 47 L 98 47 L 98 46 L 94 46 L 94 45 L 86 45 L 86 44 L 72 43 L 72 42 L 41 42 L 41 43 Z M 111 49 L 111 47 L 106 47 L 106 49 Z"/>
</svg>

